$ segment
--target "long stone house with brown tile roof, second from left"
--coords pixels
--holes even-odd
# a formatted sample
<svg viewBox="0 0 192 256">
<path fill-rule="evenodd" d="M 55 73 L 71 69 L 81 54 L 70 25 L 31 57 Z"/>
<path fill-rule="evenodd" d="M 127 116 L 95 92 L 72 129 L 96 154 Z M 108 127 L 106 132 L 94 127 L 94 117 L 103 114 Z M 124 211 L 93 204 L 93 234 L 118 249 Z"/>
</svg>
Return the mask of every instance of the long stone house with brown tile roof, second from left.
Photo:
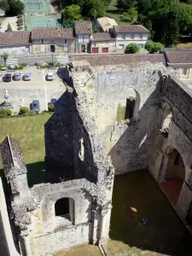
<svg viewBox="0 0 192 256">
<path fill-rule="evenodd" d="M 62 54 L 75 52 L 73 28 L 37 28 L 32 30 L 33 54 Z"/>
</svg>

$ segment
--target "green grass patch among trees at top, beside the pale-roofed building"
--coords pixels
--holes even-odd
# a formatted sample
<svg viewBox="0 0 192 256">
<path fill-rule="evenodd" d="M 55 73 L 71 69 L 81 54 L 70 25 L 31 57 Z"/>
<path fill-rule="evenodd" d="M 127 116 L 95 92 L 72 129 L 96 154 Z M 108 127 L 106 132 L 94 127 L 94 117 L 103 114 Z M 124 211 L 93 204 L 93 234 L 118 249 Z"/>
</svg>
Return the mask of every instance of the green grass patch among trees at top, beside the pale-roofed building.
<svg viewBox="0 0 192 256">
<path fill-rule="evenodd" d="M 119 25 L 128 25 L 130 24 L 130 20 L 124 20 L 124 16 L 121 14 L 120 10 L 116 7 L 117 0 L 113 0 L 111 3 L 109 3 L 107 9 L 106 9 L 106 15 L 109 18 L 114 19 Z"/>
</svg>

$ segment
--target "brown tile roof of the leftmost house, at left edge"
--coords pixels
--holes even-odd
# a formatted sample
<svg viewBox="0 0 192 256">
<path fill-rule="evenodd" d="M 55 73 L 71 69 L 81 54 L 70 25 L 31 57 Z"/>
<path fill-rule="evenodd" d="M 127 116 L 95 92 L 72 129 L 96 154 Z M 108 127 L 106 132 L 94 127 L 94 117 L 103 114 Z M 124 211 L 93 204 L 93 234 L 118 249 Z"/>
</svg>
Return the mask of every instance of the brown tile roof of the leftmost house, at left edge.
<svg viewBox="0 0 192 256">
<path fill-rule="evenodd" d="M 0 45 L 30 44 L 30 32 L 0 32 Z"/>
</svg>

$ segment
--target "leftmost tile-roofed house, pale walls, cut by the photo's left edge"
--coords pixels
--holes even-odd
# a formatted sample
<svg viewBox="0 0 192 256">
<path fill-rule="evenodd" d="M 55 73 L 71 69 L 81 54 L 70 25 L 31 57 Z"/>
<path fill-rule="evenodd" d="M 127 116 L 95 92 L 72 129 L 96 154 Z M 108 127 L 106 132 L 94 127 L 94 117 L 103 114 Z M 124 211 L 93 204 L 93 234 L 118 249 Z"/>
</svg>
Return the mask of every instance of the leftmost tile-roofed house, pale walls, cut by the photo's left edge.
<svg viewBox="0 0 192 256">
<path fill-rule="evenodd" d="M 30 55 L 30 32 L 0 32 L 0 55 L 4 52 L 9 55 Z"/>
</svg>

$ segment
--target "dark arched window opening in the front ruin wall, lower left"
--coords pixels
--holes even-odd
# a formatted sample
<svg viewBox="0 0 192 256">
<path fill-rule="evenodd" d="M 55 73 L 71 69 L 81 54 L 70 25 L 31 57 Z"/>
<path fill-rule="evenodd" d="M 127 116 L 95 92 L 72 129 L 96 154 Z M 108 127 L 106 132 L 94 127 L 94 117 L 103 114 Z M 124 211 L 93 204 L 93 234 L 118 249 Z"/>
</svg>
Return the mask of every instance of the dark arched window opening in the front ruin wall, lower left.
<svg viewBox="0 0 192 256">
<path fill-rule="evenodd" d="M 73 224 L 74 221 L 74 201 L 71 198 L 61 198 L 55 202 L 56 222 Z"/>
</svg>

